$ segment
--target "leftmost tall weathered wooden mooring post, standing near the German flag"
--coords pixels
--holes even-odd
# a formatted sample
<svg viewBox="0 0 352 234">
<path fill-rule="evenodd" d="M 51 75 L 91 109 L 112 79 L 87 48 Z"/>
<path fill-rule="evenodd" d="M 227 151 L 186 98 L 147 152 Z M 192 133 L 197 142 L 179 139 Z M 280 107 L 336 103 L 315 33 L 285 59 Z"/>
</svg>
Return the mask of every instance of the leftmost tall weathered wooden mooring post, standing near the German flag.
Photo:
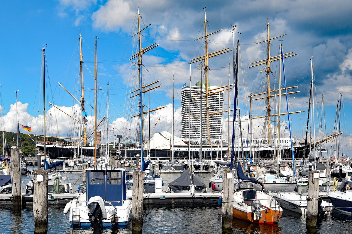
<svg viewBox="0 0 352 234">
<path fill-rule="evenodd" d="M 14 208 L 22 206 L 21 160 L 18 148 L 11 148 L 12 203 Z"/>
</svg>

